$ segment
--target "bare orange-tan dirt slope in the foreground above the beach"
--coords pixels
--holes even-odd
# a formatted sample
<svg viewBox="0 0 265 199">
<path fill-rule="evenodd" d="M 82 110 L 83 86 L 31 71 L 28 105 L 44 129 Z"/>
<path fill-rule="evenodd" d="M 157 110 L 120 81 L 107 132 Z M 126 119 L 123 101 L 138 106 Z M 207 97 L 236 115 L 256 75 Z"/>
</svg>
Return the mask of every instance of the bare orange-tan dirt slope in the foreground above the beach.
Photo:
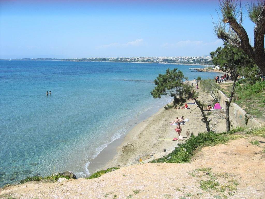
<svg viewBox="0 0 265 199">
<path fill-rule="evenodd" d="M 252 145 L 249 140 L 260 141 Z M 247 137 L 228 145 L 206 147 L 191 163 L 146 163 L 122 167 L 100 178 L 68 180 L 63 183 L 30 182 L 1 190 L 0 198 L 265 198 L 265 139 Z M 225 187 L 224 192 L 200 188 L 209 175 L 196 168 L 211 167 L 211 174 Z M 220 186 L 219 186 L 220 187 Z M 139 190 L 135 194 L 133 190 Z M 229 193 L 233 196 L 229 196 Z M 115 195 L 117 197 L 115 197 Z"/>
</svg>

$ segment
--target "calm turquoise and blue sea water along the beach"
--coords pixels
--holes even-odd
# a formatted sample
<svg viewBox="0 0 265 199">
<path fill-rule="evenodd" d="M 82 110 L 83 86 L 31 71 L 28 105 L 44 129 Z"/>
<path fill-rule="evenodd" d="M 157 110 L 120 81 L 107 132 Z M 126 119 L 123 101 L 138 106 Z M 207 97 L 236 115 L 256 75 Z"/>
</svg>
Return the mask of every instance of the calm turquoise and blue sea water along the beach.
<svg viewBox="0 0 265 199">
<path fill-rule="evenodd" d="M 29 175 L 89 174 L 89 160 L 130 121 L 171 100 L 150 94 L 167 68 L 190 80 L 216 75 L 172 64 L 1 60 L 0 187 Z"/>
</svg>

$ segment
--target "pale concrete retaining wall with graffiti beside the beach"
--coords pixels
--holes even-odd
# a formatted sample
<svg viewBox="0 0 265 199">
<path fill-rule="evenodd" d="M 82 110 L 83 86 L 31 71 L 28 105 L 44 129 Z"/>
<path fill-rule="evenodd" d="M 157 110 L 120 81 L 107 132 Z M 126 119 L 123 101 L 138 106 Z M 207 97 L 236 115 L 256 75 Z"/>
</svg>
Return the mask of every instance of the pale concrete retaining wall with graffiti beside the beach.
<svg viewBox="0 0 265 199">
<path fill-rule="evenodd" d="M 225 94 L 218 90 L 215 95 L 218 98 L 218 102 L 220 103 L 220 106 L 226 110 L 226 100 L 229 100 L 225 96 Z M 257 122 L 252 116 L 246 113 L 240 106 L 238 106 L 235 103 L 231 103 L 230 107 L 230 120 L 232 120 L 233 123 L 236 124 L 236 126 L 241 126 L 241 127 L 256 127 L 260 126 L 260 123 Z"/>
</svg>

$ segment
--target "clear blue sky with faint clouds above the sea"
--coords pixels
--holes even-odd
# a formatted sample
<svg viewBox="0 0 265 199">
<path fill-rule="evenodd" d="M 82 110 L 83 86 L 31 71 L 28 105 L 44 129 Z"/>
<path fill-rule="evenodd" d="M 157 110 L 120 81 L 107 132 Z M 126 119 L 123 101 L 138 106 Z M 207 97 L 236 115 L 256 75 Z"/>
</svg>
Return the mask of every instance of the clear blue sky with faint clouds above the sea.
<svg viewBox="0 0 265 199">
<path fill-rule="evenodd" d="M 217 0 L 1 0 L 0 58 L 208 55 L 223 43 L 213 33 L 218 6 Z M 247 16 L 243 25 L 253 40 Z"/>
</svg>

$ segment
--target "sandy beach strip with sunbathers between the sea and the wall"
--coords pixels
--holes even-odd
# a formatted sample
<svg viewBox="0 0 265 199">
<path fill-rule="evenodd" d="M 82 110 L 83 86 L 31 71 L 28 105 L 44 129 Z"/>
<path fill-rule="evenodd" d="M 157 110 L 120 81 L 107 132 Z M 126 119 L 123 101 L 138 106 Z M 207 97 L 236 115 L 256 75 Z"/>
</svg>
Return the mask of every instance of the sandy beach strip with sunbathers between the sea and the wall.
<svg viewBox="0 0 265 199">
<path fill-rule="evenodd" d="M 198 90 L 200 92 L 200 89 Z M 213 98 L 206 93 L 200 92 L 199 100 L 205 105 L 214 105 Z M 194 102 L 193 100 L 188 102 Z M 190 109 L 169 109 L 162 107 L 156 114 L 137 124 L 130 132 L 123 136 L 120 142 L 109 144 L 100 153 L 98 157 L 91 160 L 88 167 L 90 173 L 100 169 L 106 169 L 113 166 L 128 166 L 139 163 L 140 157 L 143 162 L 152 161 L 155 158 L 164 156 L 171 152 L 178 144 L 184 141 L 161 141 L 161 138 L 178 138 L 175 131 L 176 125 L 171 126 L 170 122 L 177 116 L 180 118 L 188 118 L 189 122 L 182 125 L 181 135 L 187 139 L 187 132 L 197 135 L 199 132 L 206 132 L 204 122 L 201 121 L 201 112 L 197 105 L 189 105 Z M 213 131 L 225 131 L 226 120 L 223 110 L 209 111 L 207 115 L 211 119 L 210 127 Z M 208 112 L 208 113 L 209 113 Z M 207 113 L 207 111 L 206 111 Z M 164 152 L 166 149 L 166 152 Z M 106 162 L 106 158 L 110 159 L 108 153 L 114 153 L 114 157 Z"/>
</svg>

